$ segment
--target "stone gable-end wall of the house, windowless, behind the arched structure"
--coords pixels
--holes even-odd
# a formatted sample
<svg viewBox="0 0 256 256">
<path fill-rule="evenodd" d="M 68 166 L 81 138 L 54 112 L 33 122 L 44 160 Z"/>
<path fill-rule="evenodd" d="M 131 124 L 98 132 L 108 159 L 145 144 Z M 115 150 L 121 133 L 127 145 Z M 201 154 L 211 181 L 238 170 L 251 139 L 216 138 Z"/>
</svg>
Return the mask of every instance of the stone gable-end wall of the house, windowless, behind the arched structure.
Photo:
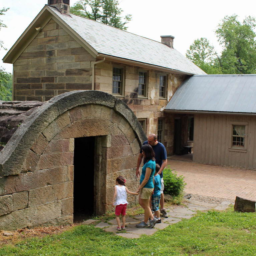
<svg viewBox="0 0 256 256">
<path fill-rule="evenodd" d="M 13 63 L 14 100 L 46 101 L 66 91 L 90 90 L 91 61 L 51 19 Z"/>
</svg>

